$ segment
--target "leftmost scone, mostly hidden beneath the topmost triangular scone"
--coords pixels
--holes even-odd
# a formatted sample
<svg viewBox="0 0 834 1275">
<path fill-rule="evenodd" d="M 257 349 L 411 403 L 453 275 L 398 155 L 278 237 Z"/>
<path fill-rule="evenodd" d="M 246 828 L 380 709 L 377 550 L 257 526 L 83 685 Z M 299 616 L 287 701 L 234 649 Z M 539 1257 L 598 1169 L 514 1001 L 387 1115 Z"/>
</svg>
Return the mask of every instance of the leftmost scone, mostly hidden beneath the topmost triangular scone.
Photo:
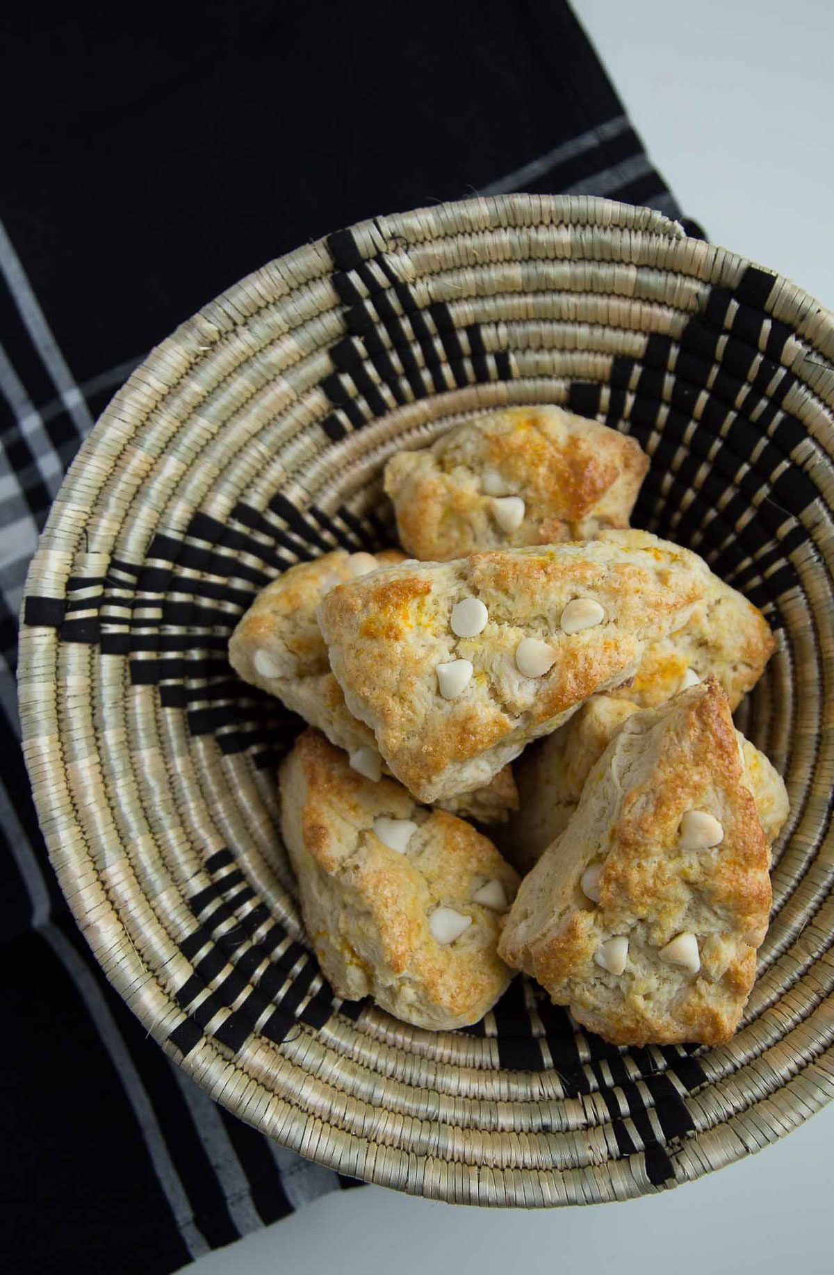
<svg viewBox="0 0 834 1275">
<path fill-rule="evenodd" d="M 238 621 L 228 644 L 232 668 L 252 686 L 277 695 L 288 709 L 344 748 L 363 774 L 380 770 L 374 732 L 357 720 L 330 672 L 316 607 L 335 588 L 381 566 L 403 561 L 399 550 L 346 553 L 335 550 L 312 562 L 300 562 L 258 594 Z M 476 793 L 454 801 L 454 812 L 482 822 L 500 822 L 518 808 L 513 773 L 506 768 Z"/>
</svg>

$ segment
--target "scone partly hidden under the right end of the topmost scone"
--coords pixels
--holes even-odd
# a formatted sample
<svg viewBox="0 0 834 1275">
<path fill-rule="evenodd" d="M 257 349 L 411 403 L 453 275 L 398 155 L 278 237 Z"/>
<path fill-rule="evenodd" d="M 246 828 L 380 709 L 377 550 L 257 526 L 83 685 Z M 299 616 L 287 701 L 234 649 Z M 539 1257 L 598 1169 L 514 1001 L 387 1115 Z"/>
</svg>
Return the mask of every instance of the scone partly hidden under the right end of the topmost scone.
<svg viewBox="0 0 834 1275">
<path fill-rule="evenodd" d="M 648 532 L 633 530 L 633 542 Z M 599 533 L 607 538 L 606 532 Z M 691 673 L 713 673 L 723 686 L 733 711 L 764 672 L 777 649 L 768 621 L 751 602 L 724 584 L 701 564 L 705 580 L 703 599 L 680 632 L 653 643 L 640 660 L 636 676 L 622 697 L 640 708 L 655 708 L 692 681 Z"/>
</svg>

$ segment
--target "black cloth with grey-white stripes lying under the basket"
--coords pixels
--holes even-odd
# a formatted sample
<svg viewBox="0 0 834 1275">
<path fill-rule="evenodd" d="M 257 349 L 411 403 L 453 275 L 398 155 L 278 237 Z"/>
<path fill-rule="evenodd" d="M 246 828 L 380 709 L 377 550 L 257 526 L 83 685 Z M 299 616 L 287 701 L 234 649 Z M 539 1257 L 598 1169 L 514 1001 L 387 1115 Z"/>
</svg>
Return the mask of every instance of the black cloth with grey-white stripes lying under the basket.
<svg viewBox="0 0 834 1275">
<path fill-rule="evenodd" d="M 339 226 L 474 191 L 678 209 L 557 0 L 46 13 L 6 19 L 0 85 L 0 1251 L 17 1275 L 163 1275 L 348 1183 L 167 1061 L 57 889 L 14 673 L 61 478 L 156 342 Z"/>
</svg>

